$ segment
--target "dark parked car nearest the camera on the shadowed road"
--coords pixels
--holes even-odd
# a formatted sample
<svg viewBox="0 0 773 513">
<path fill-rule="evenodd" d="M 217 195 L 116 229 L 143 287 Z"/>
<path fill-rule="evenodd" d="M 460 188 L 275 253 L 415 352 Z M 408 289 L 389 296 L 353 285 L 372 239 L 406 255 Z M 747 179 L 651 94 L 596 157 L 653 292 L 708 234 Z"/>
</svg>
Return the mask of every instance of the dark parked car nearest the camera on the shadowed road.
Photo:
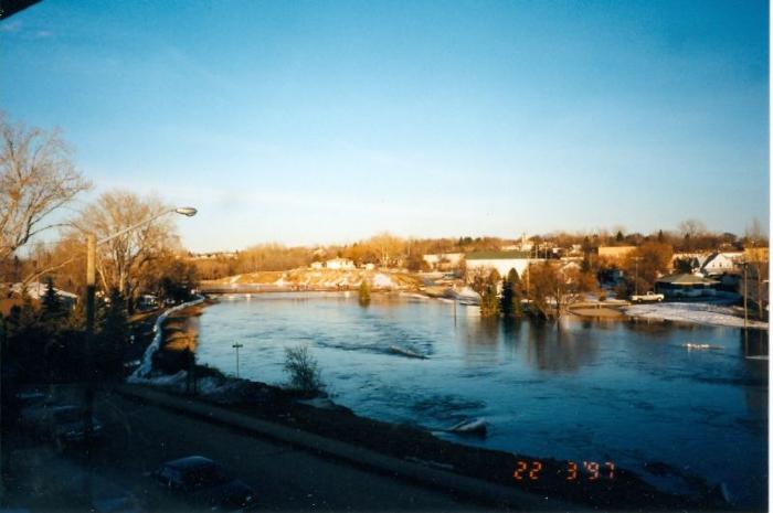
<svg viewBox="0 0 773 513">
<path fill-rule="evenodd" d="M 193 507 L 247 511 L 256 506 L 255 491 L 209 458 L 189 456 L 168 461 L 152 475 L 161 487 Z"/>
</svg>

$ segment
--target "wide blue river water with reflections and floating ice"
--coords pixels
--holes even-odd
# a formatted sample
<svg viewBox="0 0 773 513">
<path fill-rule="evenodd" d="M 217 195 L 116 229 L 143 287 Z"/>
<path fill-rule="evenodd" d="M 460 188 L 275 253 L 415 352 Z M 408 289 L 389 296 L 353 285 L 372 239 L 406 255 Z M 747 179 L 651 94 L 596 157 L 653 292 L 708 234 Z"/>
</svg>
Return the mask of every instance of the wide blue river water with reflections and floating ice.
<svg viewBox="0 0 773 513">
<path fill-rule="evenodd" d="M 336 400 L 361 415 L 430 429 L 486 417 L 486 439 L 459 441 L 643 474 L 664 462 L 726 482 L 744 505 L 766 500 L 767 362 L 746 357 L 767 354 L 766 332 L 491 322 L 476 308 L 378 295 L 368 308 L 343 295 L 254 296 L 200 322 L 199 361 L 233 373 L 237 340 L 253 380 L 284 382 L 284 349 L 309 344 Z"/>
</svg>

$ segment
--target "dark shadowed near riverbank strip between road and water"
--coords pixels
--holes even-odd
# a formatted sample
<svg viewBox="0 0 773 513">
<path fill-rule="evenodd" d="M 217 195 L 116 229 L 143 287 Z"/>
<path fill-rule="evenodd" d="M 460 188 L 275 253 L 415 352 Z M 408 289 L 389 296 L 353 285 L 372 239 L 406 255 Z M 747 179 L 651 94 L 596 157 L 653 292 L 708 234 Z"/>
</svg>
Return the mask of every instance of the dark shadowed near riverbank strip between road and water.
<svg viewBox="0 0 773 513">
<path fill-rule="evenodd" d="M 158 354 L 180 354 L 195 343 L 182 343 L 181 333 L 190 328 L 186 322 L 195 322 L 202 307 L 172 312 L 163 325 L 163 339 Z M 176 348 L 176 349 L 174 349 Z M 182 350 L 181 350 L 182 349 Z M 155 359 L 156 360 L 156 359 Z M 172 362 L 173 357 L 168 357 Z M 180 361 L 180 363 L 182 363 Z M 223 375 L 216 370 L 195 366 L 195 380 L 190 378 L 186 366 L 180 365 L 173 374 L 156 373 L 146 384 L 161 386 L 178 395 L 198 391 L 203 400 L 234 409 L 256 418 L 269 420 L 317 435 L 342 440 L 392 457 L 420 461 L 432 468 L 449 470 L 462 475 L 487 482 L 516 487 L 531 493 L 546 494 L 578 504 L 605 509 L 705 509 L 723 507 L 717 488 L 710 489 L 701 479 L 680 475 L 689 482 L 689 496 L 678 496 L 657 490 L 642 477 L 625 469 L 615 469 L 614 478 L 604 474 L 600 479 L 580 469 L 575 479 L 568 461 L 537 458 L 532 455 L 484 449 L 449 440 L 442 440 L 432 432 L 414 426 L 395 425 L 354 415 L 348 408 L 335 405 L 327 398 L 313 400 L 280 387 Z M 173 368 L 168 368 L 173 371 Z M 463 438 L 459 438 L 463 440 Z M 539 462 L 540 470 L 529 479 L 528 472 L 516 479 L 519 461 L 529 466 Z M 663 463 L 652 467 L 653 474 L 678 475 L 680 471 Z"/>
</svg>

